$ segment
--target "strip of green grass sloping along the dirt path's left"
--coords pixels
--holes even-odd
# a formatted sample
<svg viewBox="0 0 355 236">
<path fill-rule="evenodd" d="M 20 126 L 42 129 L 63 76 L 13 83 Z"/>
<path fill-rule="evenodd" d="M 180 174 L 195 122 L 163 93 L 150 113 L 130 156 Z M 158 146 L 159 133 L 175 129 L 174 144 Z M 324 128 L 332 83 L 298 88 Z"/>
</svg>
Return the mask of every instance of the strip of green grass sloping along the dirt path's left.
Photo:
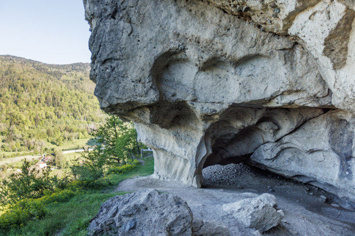
<svg viewBox="0 0 355 236">
<path fill-rule="evenodd" d="M 153 158 L 145 159 L 145 165 L 137 165 L 132 171 L 108 176 L 112 186 L 105 190 L 84 191 L 66 203 L 51 203 L 46 206 L 48 213 L 41 220 L 33 220 L 22 228 L 14 228 L 1 236 L 84 236 L 89 221 L 97 214 L 101 204 L 108 199 L 125 193 L 117 193 L 117 185 L 136 176 L 147 176 L 154 172 Z"/>
</svg>

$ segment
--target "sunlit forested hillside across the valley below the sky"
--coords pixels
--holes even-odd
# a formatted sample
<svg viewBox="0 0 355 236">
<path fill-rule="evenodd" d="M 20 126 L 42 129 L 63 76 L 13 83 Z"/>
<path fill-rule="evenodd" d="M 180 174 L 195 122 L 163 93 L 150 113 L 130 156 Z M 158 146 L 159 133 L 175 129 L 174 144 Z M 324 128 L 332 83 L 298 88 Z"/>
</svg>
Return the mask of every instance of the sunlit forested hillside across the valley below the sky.
<svg viewBox="0 0 355 236">
<path fill-rule="evenodd" d="M 103 121 L 89 71 L 89 63 L 49 65 L 0 56 L 2 151 L 41 153 L 48 144 L 89 137 Z"/>
</svg>

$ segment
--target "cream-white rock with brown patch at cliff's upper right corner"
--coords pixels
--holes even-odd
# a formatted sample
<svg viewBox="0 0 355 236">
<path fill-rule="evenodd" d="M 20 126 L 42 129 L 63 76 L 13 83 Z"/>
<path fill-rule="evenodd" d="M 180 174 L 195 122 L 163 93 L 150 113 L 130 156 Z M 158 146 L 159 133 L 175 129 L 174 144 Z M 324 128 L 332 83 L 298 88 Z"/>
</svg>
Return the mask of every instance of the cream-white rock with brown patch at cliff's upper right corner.
<svg viewBox="0 0 355 236">
<path fill-rule="evenodd" d="M 345 2 L 345 1 L 343 1 Z M 300 13 L 289 29 L 315 58 L 333 92 L 332 103 L 354 112 L 355 12 L 337 1 L 321 1 Z"/>
</svg>

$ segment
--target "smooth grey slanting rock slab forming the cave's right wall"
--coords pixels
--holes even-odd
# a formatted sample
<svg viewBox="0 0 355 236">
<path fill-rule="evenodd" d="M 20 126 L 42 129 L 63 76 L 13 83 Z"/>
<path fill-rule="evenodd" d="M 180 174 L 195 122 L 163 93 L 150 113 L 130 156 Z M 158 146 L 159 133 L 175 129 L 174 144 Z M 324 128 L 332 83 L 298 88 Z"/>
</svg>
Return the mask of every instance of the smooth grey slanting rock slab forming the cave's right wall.
<svg viewBox="0 0 355 236">
<path fill-rule="evenodd" d="M 340 197 L 343 200 L 340 205 L 352 208 L 353 130 L 351 114 L 330 111 L 307 121 L 277 142 L 261 145 L 251 160 L 262 168 L 319 186 Z"/>
</svg>

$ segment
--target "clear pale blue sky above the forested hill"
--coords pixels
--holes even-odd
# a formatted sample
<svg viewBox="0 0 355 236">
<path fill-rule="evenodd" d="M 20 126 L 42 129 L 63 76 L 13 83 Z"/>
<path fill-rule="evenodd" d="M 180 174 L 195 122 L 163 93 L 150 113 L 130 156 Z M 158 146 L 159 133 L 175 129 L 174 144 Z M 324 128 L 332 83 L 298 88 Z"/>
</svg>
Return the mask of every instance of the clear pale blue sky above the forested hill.
<svg viewBox="0 0 355 236">
<path fill-rule="evenodd" d="M 82 0 L 0 0 L 0 55 L 90 62 L 89 37 Z"/>
</svg>

